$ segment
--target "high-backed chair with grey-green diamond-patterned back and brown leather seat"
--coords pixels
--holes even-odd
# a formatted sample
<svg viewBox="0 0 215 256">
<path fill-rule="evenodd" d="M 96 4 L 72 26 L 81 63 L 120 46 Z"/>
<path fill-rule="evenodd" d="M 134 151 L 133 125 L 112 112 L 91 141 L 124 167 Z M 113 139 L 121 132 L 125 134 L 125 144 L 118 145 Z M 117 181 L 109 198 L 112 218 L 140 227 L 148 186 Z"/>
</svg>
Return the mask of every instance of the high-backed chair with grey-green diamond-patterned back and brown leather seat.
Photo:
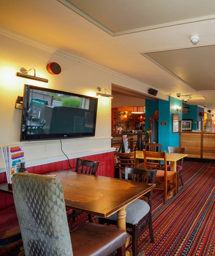
<svg viewBox="0 0 215 256">
<path fill-rule="evenodd" d="M 12 190 L 25 255 L 125 255 L 120 228 L 85 222 L 69 233 L 62 185 L 55 177 L 15 173 Z M 30 227 L 30 228 L 29 228 Z"/>
</svg>

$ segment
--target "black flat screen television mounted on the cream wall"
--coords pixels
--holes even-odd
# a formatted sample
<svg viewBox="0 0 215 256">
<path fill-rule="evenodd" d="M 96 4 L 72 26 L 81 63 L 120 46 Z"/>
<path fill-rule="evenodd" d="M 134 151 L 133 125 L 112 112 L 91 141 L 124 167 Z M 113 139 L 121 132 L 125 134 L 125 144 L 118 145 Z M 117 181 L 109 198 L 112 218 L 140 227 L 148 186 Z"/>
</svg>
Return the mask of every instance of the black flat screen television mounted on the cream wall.
<svg viewBox="0 0 215 256">
<path fill-rule="evenodd" d="M 20 141 L 95 136 L 97 98 L 24 85 Z"/>
</svg>

